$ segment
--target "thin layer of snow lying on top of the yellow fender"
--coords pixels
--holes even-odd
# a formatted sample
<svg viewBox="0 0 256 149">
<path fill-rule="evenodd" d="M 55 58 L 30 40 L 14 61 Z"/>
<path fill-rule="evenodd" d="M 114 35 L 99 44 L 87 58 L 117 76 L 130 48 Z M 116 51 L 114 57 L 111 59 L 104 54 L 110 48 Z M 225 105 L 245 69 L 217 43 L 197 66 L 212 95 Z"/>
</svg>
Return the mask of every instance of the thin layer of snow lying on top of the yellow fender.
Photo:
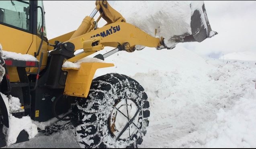
<svg viewBox="0 0 256 149">
<path fill-rule="evenodd" d="M 64 62 L 62 67 L 63 68 L 80 68 L 81 63 L 83 63 L 83 62 L 104 62 L 104 60 L 100 60 L 98 58 L 85 57 L 85 58 L 78 60 L 77 62 L 66 61 L 66 62 Z"/>
</svg>

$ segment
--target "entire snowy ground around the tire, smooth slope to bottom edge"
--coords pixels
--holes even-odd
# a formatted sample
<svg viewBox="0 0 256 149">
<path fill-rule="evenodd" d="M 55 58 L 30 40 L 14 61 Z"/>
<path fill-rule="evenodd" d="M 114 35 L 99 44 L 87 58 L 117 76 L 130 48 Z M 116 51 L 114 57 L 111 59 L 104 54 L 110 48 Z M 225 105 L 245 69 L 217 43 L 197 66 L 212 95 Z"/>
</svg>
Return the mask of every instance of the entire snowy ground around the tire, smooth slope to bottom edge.
<svg viewBox="0 0 256 149">
<path fill-rule="evenodd" d="M 139 147 L 256 147 L 255 61 L 203 59 L 177 47 L 119 52 L 106 62 L 115 67 L 96 76 L 128 72 L 148 95 L 150 125 Z M 79 147 L 72 133 L 39 133 L 9 147 Z"/>
</svg>

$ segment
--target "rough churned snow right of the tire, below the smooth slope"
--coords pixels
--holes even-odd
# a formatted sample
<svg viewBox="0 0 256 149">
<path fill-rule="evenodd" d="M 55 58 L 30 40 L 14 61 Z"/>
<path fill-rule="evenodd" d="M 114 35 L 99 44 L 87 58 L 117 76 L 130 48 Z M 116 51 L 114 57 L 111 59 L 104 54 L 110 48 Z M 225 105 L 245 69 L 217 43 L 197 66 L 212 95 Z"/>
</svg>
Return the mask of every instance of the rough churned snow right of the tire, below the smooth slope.
<svg viewBox="0 0 256 149">
<path fill-rule="evenodd" d="M 217 66 L 133 77 L 150 101 L 150 128 L 140 147 L 255 147 L 256 68 Z"/>
</svg>

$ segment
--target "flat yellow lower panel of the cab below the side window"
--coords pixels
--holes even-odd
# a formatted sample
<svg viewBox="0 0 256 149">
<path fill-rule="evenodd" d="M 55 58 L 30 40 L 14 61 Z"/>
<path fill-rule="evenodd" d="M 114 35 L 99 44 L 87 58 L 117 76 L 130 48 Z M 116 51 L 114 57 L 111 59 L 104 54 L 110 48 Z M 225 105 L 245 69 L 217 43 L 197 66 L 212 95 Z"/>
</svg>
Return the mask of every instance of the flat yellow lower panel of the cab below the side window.
<svg viewBox="0 0 256 149">
<path fill-rule="evenodd" d="M 15 28 L 0 24 L 0 43 L 3 50 L 26 54 L 33 42 L 33 35 Z"/>
</svg>

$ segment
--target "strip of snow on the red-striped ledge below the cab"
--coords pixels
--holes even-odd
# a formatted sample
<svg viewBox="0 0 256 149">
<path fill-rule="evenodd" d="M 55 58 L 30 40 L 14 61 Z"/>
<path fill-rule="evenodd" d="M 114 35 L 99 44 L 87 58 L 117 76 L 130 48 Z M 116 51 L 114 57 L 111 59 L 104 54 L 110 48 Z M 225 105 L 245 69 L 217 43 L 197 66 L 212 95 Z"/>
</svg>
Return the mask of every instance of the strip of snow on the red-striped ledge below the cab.
<svg viewBox="0 0 256 149">
<path fill-rule="evenodd" d="M 3 59 L 12 59 L 12 60 L 25 60 L 25 61 L 38 61 L 37 58 L 35 58 L 32 55 L 29 54 L 21 54 L 16 52 L 9 52 L 3 50 Z"/>
</svg>

